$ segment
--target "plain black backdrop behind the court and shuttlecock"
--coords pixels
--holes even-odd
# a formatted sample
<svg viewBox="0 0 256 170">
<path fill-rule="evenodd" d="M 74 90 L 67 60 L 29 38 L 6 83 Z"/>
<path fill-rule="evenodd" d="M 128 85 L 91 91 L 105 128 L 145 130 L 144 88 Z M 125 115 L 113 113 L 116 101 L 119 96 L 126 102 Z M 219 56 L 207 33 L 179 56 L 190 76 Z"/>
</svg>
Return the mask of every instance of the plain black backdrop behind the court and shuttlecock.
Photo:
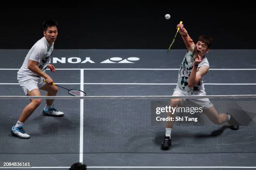
<svg viewBox="0 0 256 170">
<path fill-rule="evenodd" d="M 195 41 L 210 35 L 212 49 L 256 48 L 255 7 L 246 1 L 9 2 L 0 9 L 2 49 L 31 48 L 49 19 L 59 22 L 55 49 L 166 49 L 180 20 Z M 166 13 L 171 19 L 164 18 Z M 180 36 L 173 48 L 184 48 Z"/>
</svg>

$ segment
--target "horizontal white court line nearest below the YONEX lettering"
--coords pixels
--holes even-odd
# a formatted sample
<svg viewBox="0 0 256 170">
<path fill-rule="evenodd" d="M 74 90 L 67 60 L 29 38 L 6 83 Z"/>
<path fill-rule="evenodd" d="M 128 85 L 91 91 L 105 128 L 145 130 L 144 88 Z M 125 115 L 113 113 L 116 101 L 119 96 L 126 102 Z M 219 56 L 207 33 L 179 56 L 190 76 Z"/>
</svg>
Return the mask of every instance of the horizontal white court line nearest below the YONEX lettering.
<svg viewBox="0 0 256 170">
<path fill-rule="evenodd" d="M 19 68 L 0 68 L 0 70 L 19 70 Z M 179 68 L 56 68 L 56 70 L 179 70 Z M 256 70 L 256 68 L 210 68 L 209 70 Z"/>
</svg>

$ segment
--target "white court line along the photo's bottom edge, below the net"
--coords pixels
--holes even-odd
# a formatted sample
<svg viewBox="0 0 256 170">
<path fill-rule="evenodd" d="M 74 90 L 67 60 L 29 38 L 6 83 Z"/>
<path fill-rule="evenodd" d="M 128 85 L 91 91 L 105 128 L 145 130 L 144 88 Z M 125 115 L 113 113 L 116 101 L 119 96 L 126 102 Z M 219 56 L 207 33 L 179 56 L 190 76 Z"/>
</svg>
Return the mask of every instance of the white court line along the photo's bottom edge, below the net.
<svg viewBox="0 0 256 170">
<path fill-rule="evenodd" d="M 0 167 L 0 168 L 70 168 L 70 167 Z M 152 166 L 152 167 L 131 167 L 131 166 L 127 166 L 127 167 L 125 167 L 125 166 L 123 166 L 123 167 L 117 167 L 117 166 L 109 166 L 109 167 L 87 167 L 87 168 L 256 168 L 256 167 L 228 167 L 228 166 L 209 166 L 209 167 L 207 167 L 207 166 L 198 166 L 198 167 L 196 167 L 196 166 L 191 166 L 191 167 L 158 167 L 158 166 Z"/>
</svg>

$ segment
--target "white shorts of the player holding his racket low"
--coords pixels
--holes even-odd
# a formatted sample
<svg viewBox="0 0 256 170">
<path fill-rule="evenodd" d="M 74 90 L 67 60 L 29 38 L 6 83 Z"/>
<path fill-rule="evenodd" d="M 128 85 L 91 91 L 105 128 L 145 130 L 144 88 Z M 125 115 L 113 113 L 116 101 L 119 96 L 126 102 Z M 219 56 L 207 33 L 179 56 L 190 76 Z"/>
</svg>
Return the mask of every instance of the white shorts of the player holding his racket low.
<svg viewBox="0 0 256 170">
<path fill-rule="evenodd" d="M 41 87 L 46 85 L 46 83 L 44 82 L 44 78 L 39 77 L 39 76 L 17 75 L 17 80 L 18 80 L 21 88 L 25 92 L 25 95 L 28 94 L 27 90 L 29 90 L 31 92 L 31 90 L 40 89 Z"/>
</svg>

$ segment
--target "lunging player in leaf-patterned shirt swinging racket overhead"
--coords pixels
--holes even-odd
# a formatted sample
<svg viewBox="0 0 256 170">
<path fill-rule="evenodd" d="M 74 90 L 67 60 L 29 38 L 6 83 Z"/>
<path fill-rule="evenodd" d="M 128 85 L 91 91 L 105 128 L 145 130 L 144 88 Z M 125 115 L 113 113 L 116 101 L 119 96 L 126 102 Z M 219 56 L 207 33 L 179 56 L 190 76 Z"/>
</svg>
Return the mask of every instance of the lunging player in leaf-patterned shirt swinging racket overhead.
<svg viewBox="0 0 256 170">
<path fill-rule="evenodd" d="M 182 35 L 182 39 L 187 47 L 187 53 L 179 69 L 178 83 L 174 89 L 173 96 L 206 95 L 202 78 L 209 70 L 209 63 L 205 54 L 209 52 L 211 38 L 202 35 L 195 44 L 183 26 L 183 24 L 178 24 L 177 28 L 180 28 L 179 33 Z M 172 99 L 170 105 L 171 107 L 179 107 L 183 106 L 186 101 L 183 99 Z M 190 99 L 189 102 L 202 106 L 203 113 L 213 123 L 221 125 L 224 122 L 228 122 L 231 129 L 238 130 L 238 122 L 229 114 L 218 114 L 209 99 Z M 175 117 L 175 112 L 169 112 L 168 116 Z M 166 133 L 161 144 L 163 150 L 168 150 L 171 146 L 173 124 L 174 121 L 166 122 Z"/>
</svg>

